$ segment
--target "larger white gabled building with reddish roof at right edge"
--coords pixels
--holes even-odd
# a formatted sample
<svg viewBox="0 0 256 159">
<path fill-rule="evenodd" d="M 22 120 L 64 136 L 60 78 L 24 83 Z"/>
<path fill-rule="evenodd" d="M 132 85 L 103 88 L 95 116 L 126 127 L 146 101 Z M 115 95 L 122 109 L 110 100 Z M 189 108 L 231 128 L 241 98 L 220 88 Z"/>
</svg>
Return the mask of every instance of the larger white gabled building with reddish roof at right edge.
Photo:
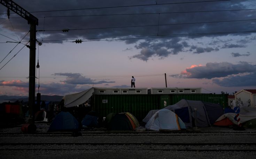
<svg viewBox="0 0 256 159">
<path fill-rule="evenodd" d="M 235 93 L 236 106 L 256 107 L 256 89 L 242 89 Z"/>
</svg>

